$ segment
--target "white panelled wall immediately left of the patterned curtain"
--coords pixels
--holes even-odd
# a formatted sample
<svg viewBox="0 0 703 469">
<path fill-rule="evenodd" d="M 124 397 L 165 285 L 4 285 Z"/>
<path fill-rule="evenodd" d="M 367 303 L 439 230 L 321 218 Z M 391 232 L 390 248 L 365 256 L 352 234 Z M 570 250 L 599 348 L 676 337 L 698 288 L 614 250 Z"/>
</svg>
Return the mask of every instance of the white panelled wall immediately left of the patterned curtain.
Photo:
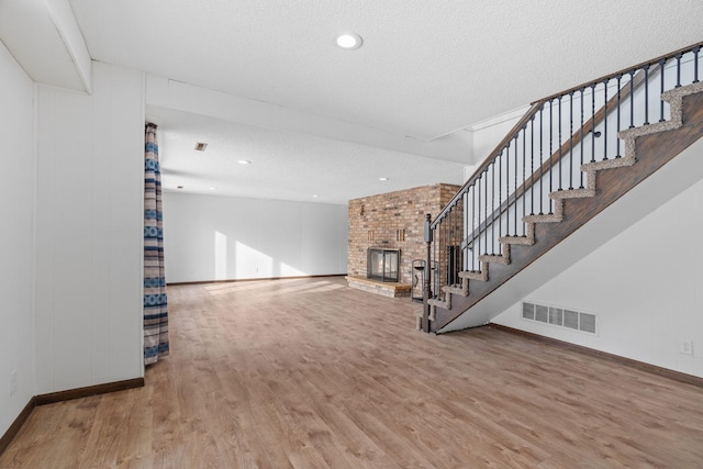
<svg viewBox="0 0 703 469">
<path fill-rule="evenodd" d="M 93 63 L 36 112 L 35 391 L 142 377 L 144 75 Z"/>
</svg>

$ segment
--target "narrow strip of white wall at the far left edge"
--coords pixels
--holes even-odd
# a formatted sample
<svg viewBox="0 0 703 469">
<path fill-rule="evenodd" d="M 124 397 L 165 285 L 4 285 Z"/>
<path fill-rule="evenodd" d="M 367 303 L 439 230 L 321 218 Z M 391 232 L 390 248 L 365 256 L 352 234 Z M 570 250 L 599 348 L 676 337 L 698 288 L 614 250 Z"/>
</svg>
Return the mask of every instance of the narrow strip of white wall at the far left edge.
<svg viewBox="0 0 703 469">
<path fill-rule="evenodd" d="M 34 395 L 33 85 L 0 43 L 0 435 Z M 10 373 L 16 371 L 11 394 Z"/>
</svg>

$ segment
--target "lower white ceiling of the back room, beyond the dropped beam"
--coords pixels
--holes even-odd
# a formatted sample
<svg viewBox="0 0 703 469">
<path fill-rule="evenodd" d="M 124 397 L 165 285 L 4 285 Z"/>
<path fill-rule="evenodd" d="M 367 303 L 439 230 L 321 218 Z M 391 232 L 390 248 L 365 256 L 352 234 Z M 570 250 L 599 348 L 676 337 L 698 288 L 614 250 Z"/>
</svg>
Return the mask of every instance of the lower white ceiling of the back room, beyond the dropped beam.
<svg viewBox="0 0 703 469">
<path fill-rule="evenodd" d="M 159 155 L 166 190 L 182 186 L 186 192 L 346 204 L 462 181 L 458 163 L 164 108 L 149 108 L 148 118 L 166 148 Z M 194 149 L 197 142 L 208 143 L 204 152 Z"/>
</svg>

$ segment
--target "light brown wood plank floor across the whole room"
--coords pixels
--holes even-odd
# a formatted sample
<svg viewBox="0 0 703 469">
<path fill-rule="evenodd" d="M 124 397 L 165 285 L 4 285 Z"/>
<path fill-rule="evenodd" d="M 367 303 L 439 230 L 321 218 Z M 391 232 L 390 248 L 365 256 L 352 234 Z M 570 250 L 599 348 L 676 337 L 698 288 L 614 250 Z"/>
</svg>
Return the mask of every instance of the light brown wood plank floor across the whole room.
<svg viewBox="0 0 703 469">
<path fill-rule="evenodd" d="M 703 389 L 343 278 L 169 287 L 146 386 L 36 407 L 0 468 L 703 467 Z"/>
</svg>

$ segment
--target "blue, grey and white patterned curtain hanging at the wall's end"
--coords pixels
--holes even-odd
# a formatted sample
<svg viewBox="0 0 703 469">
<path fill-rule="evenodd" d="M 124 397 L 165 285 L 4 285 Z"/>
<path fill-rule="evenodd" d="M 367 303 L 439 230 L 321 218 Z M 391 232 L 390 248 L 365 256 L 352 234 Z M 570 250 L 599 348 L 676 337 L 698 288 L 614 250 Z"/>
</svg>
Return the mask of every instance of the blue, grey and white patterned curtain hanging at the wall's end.
<svg viewBox="0 0 703 469">
<path fill-rule="evenodd" d="M 144 138 L 144 364 L 168 355 L 168 312 L 164 276 L 161 175 L 156 125 L 146 124 Z"/>
</svg>

